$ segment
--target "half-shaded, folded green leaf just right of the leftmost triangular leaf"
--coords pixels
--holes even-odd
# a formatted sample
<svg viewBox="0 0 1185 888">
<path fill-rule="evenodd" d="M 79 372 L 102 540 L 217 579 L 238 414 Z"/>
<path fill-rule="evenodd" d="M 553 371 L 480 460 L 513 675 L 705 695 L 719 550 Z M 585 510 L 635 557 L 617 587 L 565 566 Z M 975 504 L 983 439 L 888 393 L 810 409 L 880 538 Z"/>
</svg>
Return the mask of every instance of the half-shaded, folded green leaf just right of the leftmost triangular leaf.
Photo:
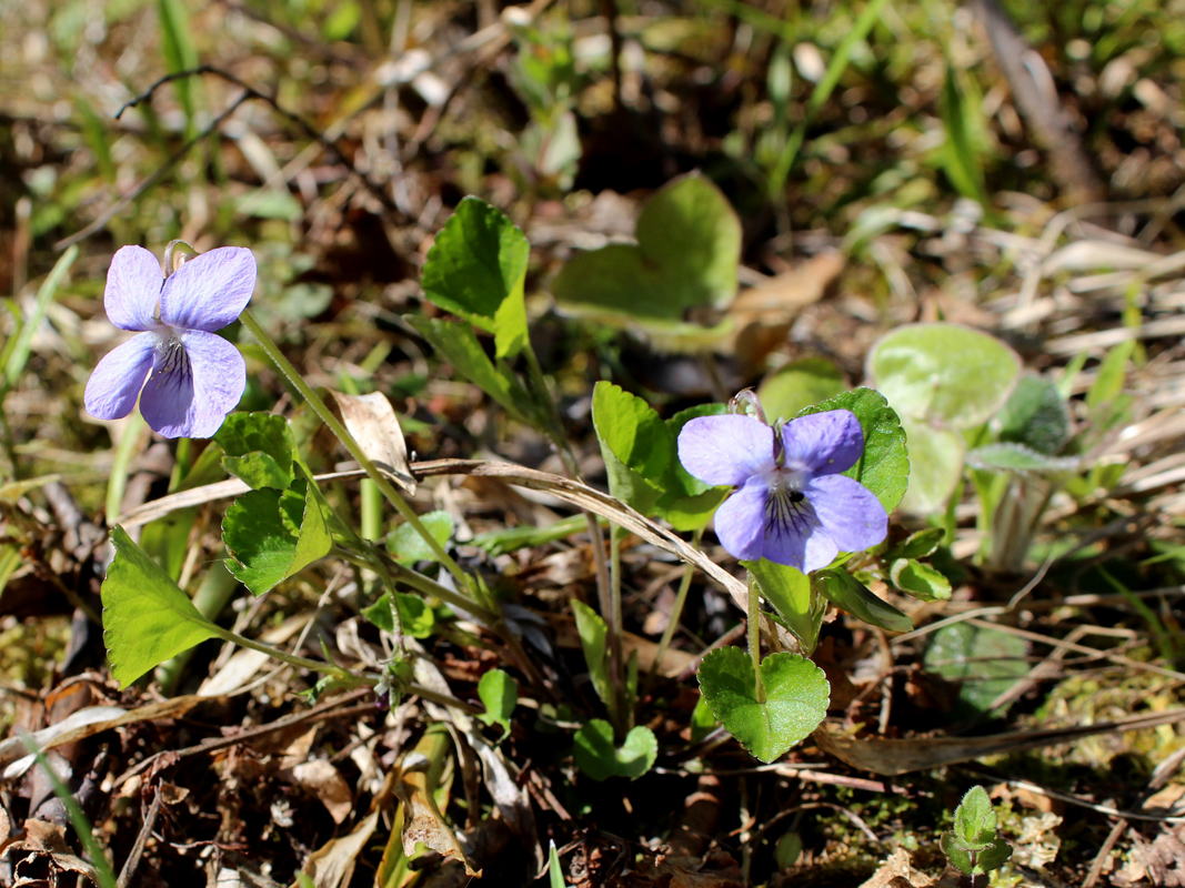
<svg viewBox="0 0 1185 888">
<path fill-rule="evenodd" d="M 329 554 L 333 540 L 308 482 L 265 488 L 238 497 L 223 519 L 226 568 L 251 594 L 262 596 Z"/>
</svg>

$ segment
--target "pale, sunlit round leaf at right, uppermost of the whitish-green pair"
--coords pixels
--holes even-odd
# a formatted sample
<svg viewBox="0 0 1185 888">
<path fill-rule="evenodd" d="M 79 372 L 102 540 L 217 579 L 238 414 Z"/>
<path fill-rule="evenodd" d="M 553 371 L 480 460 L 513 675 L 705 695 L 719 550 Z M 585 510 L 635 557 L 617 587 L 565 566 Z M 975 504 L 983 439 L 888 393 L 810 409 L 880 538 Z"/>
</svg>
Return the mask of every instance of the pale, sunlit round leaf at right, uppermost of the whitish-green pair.
<svg viewBox="0 0 1185 888">
<path fill-rule="evenodd" d="M 866 373 L 902 418 L 950 429 L 986 423 L 1007 401 L 1017 353 L 954 323 L 898 327 L 869 353 Z"/>
</svg>

